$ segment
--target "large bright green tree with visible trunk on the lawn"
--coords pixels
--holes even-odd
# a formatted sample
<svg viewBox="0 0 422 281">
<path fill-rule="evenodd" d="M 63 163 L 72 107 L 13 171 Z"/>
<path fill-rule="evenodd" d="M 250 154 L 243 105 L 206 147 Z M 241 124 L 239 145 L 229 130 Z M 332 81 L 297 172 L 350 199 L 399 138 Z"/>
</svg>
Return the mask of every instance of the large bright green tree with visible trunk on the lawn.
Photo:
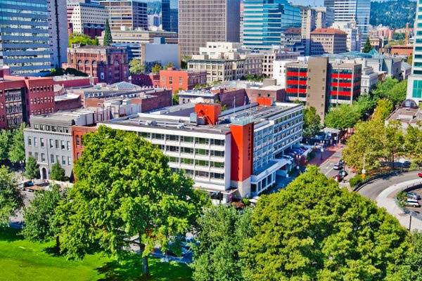
<svg viewBox="0 0 422 281">
<path fill-rule="evenodd" d="M 84 136 L 77 182 L 58 208 L 60 247 L 69 257 L 93 249 L 122 256 L 138 236 L 143 274 L 148 254 L 184 237 L 209 200 L 193 181 L 174 173 L 159 148 L 136 133 L 100 126 Z"/>
</svg>

